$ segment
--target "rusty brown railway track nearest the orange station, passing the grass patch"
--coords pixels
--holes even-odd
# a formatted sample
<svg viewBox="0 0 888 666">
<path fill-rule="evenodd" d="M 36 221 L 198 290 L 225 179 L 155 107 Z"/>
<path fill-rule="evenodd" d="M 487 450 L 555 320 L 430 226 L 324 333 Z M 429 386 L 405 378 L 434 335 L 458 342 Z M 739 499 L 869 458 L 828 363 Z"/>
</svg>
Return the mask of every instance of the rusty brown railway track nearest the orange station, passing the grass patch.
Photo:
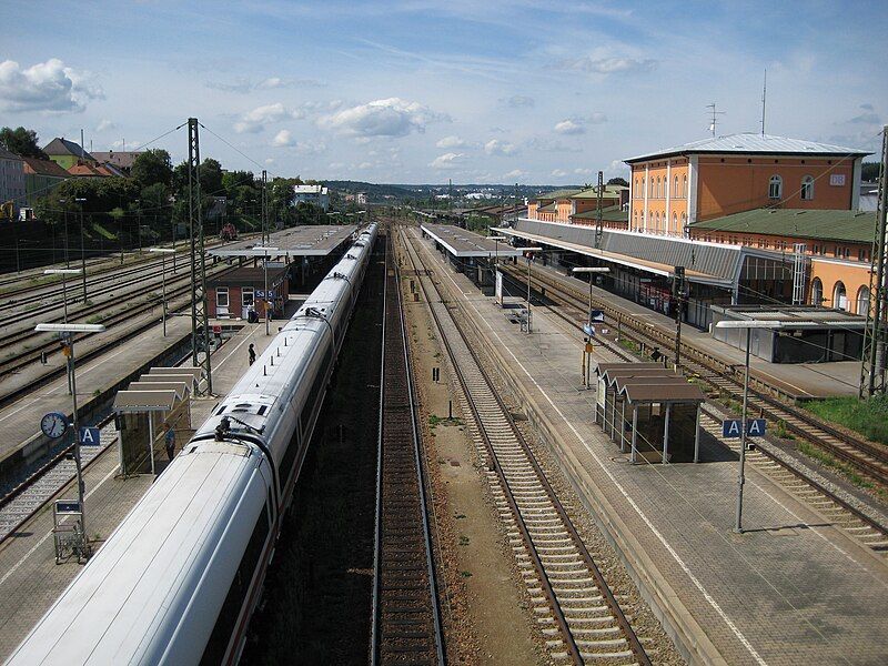
<svg viewBox="0 0 888 666">
<path fill-rule="evenodd" d="M 506 268 L 509 276 L 526 285 L 523 272 Z M 549 297 L 554 296 L 579 312 L 588 307 L 588 293 L 581 294 L 578 290 L 564 281 L 556 281 L 538 270 L 532 273 L 532 284 L 545 291 Z M 673 331 L 664 331 L 649 322 L 640 324 L 632 317 L 601 299 L 593 296 L 593 305 L 604 312 L 613 326 L 636 342 L 644 342 L 648 346 L 659 346 L 674 352 L 675 336 Z M 692 374 L 705 382 L 720 397 L 741 400 L 743 381 L 737 376 L 734 366 L 722 363 L 705 352 L 686 343 L 682 343 L 682 366 L 687 374 Z M 858 471 L 870 476 L 884 485 L 888 485 L 888 447 L 851 433 L 839 431 L 827 423 L 807 414 L 804 410 L 787 404 L 767 392 L 767 387 L 759 382 L 758 387 L 750 383 L 749 408 L 767 417 L 771 423 L 783 423 L 787 431 L 795 436 L 808 441 L 828 451 L 837 458 L 854 465 Z"/>
</svg>

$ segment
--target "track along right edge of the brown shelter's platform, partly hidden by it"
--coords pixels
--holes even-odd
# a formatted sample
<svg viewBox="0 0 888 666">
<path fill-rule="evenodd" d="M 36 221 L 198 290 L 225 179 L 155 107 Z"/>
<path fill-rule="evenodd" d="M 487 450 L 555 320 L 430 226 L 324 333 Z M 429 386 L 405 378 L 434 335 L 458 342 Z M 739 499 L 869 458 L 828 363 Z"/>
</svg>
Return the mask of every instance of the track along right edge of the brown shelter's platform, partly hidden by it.
<svg viewBox="0 0 888 666">
<path fill-rule="evenodd" d="M 584 320 L 585 313 L 577 310 L 577 316 L 572 316 L 564 312 L 564 307 L 552 307 L 544 305 L 554 315 L 561 317 L 568 326 L 577 332 L 583 329 L 578 321 Z M 598 339 L 598 353 L 604 353 L 609 359 L 607 361 L 637 363 L 638 357 L 629 354 L 605 337 Z M 704 404 L 700 410 L 700 425 L 722 445 L 739 454 L 739 441 L 722 438 L 722 422 L 730 416 Z M 791 495 L 796 496 L 801 503 L 823 514 L 830 524 L 844 529 L 849 536 L 860 542 L 864 546 L 871 548 L 880 556 L 888 558 L 888 528 L 874 517 L 860 511 L 850 502 L 839 497 L 825 484 L 811 477 L 811 475 L 793 465 L 790 461 L 778 456 L 774 451 L 764 447 L 756 447 L 746 452 L 746 463 L 758 470 L 761 474 L 770 477 L 775 483 L 783 486 Z"/>
</svg>

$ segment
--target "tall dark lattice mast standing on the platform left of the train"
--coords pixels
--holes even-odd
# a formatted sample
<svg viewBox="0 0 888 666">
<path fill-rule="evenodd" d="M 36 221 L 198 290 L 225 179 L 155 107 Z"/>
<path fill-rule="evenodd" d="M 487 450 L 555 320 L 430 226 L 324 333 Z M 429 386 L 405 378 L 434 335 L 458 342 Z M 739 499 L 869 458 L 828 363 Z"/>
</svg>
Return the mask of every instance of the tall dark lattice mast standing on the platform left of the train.
<svg viewBox="0 0 888 666">
<path fill-rule="evenodd" d="M 201 206 L 201 149 L 198 119 L 188 119 L 188 219 L 191 236 L 191 363 L 201 367 L 206 381 L 205 395 L 213 393 L 210 366 L 210 322 L 206 317 L 206 254 L 203 248 Z"/>
</svg>

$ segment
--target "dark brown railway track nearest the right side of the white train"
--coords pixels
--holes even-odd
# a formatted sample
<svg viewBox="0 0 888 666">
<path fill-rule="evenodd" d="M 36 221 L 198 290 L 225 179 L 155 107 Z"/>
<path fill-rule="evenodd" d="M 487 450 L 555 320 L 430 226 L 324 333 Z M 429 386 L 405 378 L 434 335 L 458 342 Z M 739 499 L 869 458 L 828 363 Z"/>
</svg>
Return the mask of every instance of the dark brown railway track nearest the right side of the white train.
<svg viewBox="0 0 888 666">
<path fill-rule="evenodd" d="M 371 663 L 445 663 L 420 430 L 387 238 Z"/>
</svg>

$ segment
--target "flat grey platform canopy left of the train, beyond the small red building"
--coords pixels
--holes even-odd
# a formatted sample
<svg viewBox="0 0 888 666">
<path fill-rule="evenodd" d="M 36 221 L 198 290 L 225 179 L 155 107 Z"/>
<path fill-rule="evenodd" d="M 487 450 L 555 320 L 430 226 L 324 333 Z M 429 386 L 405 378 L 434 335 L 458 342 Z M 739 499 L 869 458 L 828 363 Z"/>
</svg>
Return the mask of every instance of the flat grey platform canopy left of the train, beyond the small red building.
<svg viewBox="0 0 888 666">
<path fill-rule="evenodd" d="M 266 245 L 271 258 L 326 256 L 350 240 L 357 226 L 354 224 L 306 224 L 275 231 Z M 208 251 L 210 256 L 264 256 L 261 242 L 255 240 L 228 243 Z"/>
</svg>

